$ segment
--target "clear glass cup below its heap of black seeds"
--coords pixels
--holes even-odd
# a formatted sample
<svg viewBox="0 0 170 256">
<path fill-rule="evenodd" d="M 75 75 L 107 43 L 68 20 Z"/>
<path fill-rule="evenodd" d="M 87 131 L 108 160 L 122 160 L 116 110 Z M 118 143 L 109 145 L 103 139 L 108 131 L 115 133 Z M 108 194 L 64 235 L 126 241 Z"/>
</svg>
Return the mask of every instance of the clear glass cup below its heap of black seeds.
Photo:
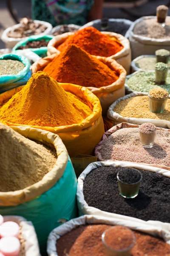
<svg viewBox="0 0 170 256">
<path fill-rule="evenodd" d="M 139 172 L 136 170 L 136 172 Z M 139 187 L 142 180 L 142 174 L 140 174 L 140 179 L 136 183 L 124 183 L 119 179 L 119 172 L 117 174 L 117 180 L 119 184 L 120 195 L 124 198 L 135 198 L 139 193 Z"/>
</svg>

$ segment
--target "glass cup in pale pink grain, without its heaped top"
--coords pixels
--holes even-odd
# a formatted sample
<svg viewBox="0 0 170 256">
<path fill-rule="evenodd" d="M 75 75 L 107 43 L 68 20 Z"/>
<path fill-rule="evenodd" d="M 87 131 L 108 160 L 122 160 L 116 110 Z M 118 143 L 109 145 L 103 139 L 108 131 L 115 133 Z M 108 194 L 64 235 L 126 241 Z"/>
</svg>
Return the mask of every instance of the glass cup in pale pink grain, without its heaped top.
<svg viewBox="0 0 170 256">
<path fill-rule="evenodd" d="M 157 130 L 156 130 L 157 131 Z M 152 148 L 156 138 L 156 131 L 150 133 L 144 133 L 139 131 L 139 137 L 141 144 L 144 148 Z"/>
</svg>

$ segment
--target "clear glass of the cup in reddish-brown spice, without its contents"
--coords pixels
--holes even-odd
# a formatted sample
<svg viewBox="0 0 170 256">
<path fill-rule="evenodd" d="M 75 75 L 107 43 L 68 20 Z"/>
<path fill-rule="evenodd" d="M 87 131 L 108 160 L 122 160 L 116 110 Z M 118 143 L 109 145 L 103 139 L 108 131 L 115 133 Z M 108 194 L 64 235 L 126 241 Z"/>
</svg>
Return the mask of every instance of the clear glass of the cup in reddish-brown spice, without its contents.
<svg viewBox="0 0 170 256">
<path fill-rule="evenodd" d="M 130 230 L 130 232 L 132 233 L 132 236 L 133 236 L 133 242 L 132 244 L 130 244 L 129 247 L 125 248 L 125 249 L 122 249 L 122 250 L 114 250 L 113 248 L 111 248 L 110 246 L 108 246 L 106 244 L 106 241 L 105 241 L 105 234 L 108 233 L 111 231 L 111 229 L 113 229 L 115 227 L 109 227 L 107 230 L 105 230 L 103 233 L 102 233 L 102 242 L 103 242 L 103 245 L 104 245 L 104 248 L 105 248 L 105 256 L 131 256 L 131 250 L 136 242 L 136 238 L 135 238 L 135 235 L 133 234 L 133 232 Z M 113 238 L 113 237 L 112 237 Z M 114 239 L 114 238 L 113 238 Z M 113 240 L 114 242 L 114 240 Z"/>
</svg>

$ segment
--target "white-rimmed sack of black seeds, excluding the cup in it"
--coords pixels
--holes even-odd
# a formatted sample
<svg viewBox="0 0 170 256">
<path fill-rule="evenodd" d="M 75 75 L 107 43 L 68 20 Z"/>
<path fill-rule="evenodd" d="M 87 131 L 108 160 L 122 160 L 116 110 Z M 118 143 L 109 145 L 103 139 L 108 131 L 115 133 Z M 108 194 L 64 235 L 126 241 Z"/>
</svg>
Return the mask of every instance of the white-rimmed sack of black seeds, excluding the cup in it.
<svg viewBox="0 0 170 256">
<path fill-rule="evenodd" d="M 115 167 L 135 168 L 142 172 L 139 195 L 133 200 L 125 200 L 119 194 Z M 168 185 L 165 186 L 166 182 L 170 183 L 169 178 L 169 170 L 138 163 L 122 161 L 91 163 L 78 178 L 77 203 L 79 215 L 100 215 L 108 218 L 118 218 L 122 221 L 132 221 L 133 223 L 139 221 L 141 224 L 145 221 L 150 223 L 150 220 L 152 220 L 151 223 L 155 226 L 160 223 L 162 227 L 164 226 L 170 231 L 169 215 L 168 212 L 163 210 L 166 209 L 169 200 L 168 191 L 166 190 Z M 163 179 L 166 180 L 165 183 Z M 153 180 L 157 180 L 156 183 Z M 150 190 L 151 186 L 152 189 Z M 159 186 L 162 186 L 162 191 L 158 195 L 156 191 L 159 191 Z"/>
</svg>

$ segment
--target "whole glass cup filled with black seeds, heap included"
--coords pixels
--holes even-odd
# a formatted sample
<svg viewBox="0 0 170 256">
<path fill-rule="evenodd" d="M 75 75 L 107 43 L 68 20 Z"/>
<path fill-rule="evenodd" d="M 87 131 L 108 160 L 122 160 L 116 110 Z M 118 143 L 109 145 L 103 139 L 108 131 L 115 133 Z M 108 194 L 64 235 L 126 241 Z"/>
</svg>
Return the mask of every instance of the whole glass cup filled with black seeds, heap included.
<svg viewBox="0 0 170 256">
<path fill-rule="evenodd" d="M 135 168 L 125 168 L 118 172 L 117 180 L 120 195 L 124 198 L 135 198 L 139 193 L 142 174 Z"/>
</svg>

